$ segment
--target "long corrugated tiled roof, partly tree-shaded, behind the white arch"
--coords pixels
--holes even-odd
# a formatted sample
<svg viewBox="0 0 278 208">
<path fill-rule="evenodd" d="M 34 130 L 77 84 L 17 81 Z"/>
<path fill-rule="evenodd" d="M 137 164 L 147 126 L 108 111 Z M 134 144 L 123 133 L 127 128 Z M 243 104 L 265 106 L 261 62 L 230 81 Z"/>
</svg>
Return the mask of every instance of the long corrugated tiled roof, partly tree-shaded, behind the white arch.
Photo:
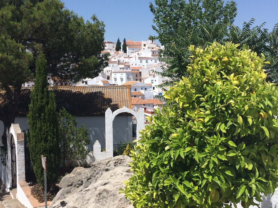
<svg viewBox="0 0 278 208">
<path fill-rule="evenodd" d="M 29 113 L 33 88 L 21 89 L 17 117 L 26 117 Z M 123 106 L 131 109 L 130 86 L 55 86 L 49 90 L 54 93 L 57 110 L 64 107 L 71 115 L 103 115 L 108 107 L 112 111 Z M 0 103 L 5 96 L 5 91 L 0 90 Z"/>
</svg>

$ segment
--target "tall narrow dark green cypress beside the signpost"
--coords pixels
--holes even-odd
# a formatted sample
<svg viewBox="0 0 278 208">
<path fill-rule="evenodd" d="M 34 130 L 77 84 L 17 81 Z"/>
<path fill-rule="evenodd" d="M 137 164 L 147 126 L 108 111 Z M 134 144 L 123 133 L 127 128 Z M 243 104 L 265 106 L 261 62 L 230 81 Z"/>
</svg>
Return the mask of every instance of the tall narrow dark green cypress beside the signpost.
<svg viewBox="0 0 278 208">
<path fill-rule="evenodd" d="M 31 92 L 28 124 L 30 135 L 28 145 L 31 162 L 38 183 L 44 184 L 44 170 L 41 155 L 46 157 L 48 187 L 56 183 L 61 161 L 59 147 L 58 113 L 54 94 L 48 92 L 46 60 L 40 52 L 36 60 L 36 80 Z"/>
</svg>

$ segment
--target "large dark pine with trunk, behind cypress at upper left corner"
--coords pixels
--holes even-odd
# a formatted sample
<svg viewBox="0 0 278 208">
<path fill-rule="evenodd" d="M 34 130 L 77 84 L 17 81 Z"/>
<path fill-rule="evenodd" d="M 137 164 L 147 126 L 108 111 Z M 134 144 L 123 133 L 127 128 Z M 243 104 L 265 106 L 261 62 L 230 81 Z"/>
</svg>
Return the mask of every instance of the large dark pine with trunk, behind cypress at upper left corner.
<svg viewBox="0 0 278 208">
<path fill-rule="evenodd" d="M 32 79 L 28 68 L 35 74 L 35 61 L 39 51 L 43 50 L 46 57 L 47 76 L 67 83 L 98 76 L 107 65 L 108 58 L 107 55 L 101 56 L 104 49 L 104 23 L 95 15 L 91 17 L 91 22 L 85 23 L 82 17 L 65 9 L 64 3 L 59 0 L 0 1 L 0 14 L 0 53 L 14 53 L 10 49 L 14 47 L 14 50 L 18 50 L 17 53 L 23 54 L 13 55 L 14 60 L 10 61 L 13 65 L 5 63 L 0 68 L 0 79 L 4 80 L 0 82 L 6 86 L 6 95 L 0 106 L 0 120 L 5 129 L 2 143 L 6 145 L 6 129 L 14 122 L 21 85 Z M 14 40 L 14 43 L 10 47 L 4 47 L 4 40 Z M 20 44 L 16 46 L 16 43 Z M 30 56 L 25 51 L 31 53 Z M 33 62 L 27 58 L 31 55 Z M 13 86 L 17 95 L 7 86 Z"/>
</svg>

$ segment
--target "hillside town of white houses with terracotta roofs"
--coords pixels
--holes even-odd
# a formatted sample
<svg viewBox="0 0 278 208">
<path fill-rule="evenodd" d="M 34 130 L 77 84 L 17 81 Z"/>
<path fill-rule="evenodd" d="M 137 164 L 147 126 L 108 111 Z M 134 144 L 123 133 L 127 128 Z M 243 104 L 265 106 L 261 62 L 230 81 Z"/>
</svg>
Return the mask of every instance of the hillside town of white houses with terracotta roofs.
<svg viewBox="0 0 278 208">
<path fill-rule="evenodd" d="M 95 78 L 85 78 L 78 83 L 61 83 L 49 78 L 50 86 L 75 85 L 75 86 L 130 86 L 131 107 L 134 111 L 142 108 L 145 113 L 145 124 L 148 124 L 147 117 L 154 114 L 154 110 L 161 107 L 163 102 L 156 98 L 162 95 L 162 88 L 159 84 L 165 81 L 159 73 L 162 72 L 161 63 L 158 60 L 160 46 L 155 40 L 126 41 L 126 53 L 116 51 L 116 43 L 109 40 L 104 42 L 104 50 L 101 54 L 108 54 L 108 66 Z M 33 86 L 34 82 L 28 82 L 23 87 Z"/>
</svg>

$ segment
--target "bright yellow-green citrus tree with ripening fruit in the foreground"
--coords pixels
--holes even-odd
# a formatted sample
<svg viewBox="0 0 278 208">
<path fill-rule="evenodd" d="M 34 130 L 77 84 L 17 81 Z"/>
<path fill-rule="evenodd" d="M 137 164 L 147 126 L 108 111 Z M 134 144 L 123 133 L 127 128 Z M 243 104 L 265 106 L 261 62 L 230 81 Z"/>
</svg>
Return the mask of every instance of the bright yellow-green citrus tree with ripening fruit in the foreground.
<svg viewBox="0 0 278 208">
<path fill-rule="evenodd" d="M 249 207 L 277 187 L 277 87 L 264 56 L 237 46 L 190 46 L 188 78 L 131 153 L 123 192 L 135 207 Z"/>
</svg>

